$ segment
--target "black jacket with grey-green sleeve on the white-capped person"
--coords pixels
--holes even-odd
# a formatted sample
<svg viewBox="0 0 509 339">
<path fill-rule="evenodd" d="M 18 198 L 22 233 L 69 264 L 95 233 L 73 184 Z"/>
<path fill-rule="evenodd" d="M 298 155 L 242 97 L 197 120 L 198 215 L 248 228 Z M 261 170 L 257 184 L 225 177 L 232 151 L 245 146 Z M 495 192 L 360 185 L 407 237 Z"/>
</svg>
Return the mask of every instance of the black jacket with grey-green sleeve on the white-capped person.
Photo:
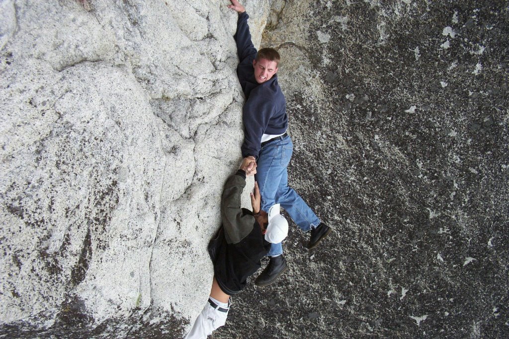
<svg viewBox="0 0 509 339">
<path fill-rule="evenodd" d="M 229 295 L 246 286 L 247 277 L 260 268 L 270 250 L 252 212 L 240 207 L 246 174 L 238 170 L 228 178 L 221 197 L 222 226 L 209 243 L 214 275 L 221 290 Z"/>
</svg>

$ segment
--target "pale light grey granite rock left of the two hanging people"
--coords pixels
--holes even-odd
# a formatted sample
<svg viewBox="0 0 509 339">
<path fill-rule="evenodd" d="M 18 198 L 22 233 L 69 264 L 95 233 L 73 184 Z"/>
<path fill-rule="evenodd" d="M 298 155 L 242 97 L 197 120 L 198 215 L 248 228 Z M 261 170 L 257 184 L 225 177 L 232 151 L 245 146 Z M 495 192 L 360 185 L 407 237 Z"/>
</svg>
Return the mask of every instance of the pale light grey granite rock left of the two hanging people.
<svg viewBox="0 0 509 339">
<path fill-rule="evenodd" d="M 201 309 L 243 138 L 227 4 L 0 3 L 3 325 L 127 334 Z M 268 3 L 249 6 L 259 43 Z"/>
</svg>

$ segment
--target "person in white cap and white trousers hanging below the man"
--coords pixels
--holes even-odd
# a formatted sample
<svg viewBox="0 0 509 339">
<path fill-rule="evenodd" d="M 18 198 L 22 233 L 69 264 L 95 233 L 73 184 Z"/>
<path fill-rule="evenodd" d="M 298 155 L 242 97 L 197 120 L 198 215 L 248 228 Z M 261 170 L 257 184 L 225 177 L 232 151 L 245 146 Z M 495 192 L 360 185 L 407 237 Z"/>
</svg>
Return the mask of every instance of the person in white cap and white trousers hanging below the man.
<svg viewBox="0 0 509 339">
<path fill-rule="evenodd" d="M 288 222 L 279 214 L 279 205 L 269 213 L 260 209 L 260 189 L 254 184 L 251 193 L 253 212 L 240 207 L 246 186 L 246 174 L 256 173 L 256 163 L 241 167 L 228 178 L 221 197 L 222 226 L 209 242 L 208 250 L 214 265 L 210 296 L 184 339 L 206 339 L 223 326 L 230 310 L 230 296 L 246 286 L 248 276 L 261 267 L 271 243 L 279 243 L 288 235 Z"/>
</svg>

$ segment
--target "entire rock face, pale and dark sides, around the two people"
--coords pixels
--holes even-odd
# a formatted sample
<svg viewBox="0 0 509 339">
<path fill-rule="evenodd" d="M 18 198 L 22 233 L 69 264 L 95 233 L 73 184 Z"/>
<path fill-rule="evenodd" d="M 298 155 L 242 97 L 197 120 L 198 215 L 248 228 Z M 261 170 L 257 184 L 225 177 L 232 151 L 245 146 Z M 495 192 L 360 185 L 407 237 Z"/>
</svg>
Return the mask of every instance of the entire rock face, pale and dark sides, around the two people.
<svg viewBox="0 0 509 339">
<path fill-rule="evenodd" d="M 0 335 L 177 338 L 200 312 L 242 141 L 228 3 L 0 2 Z M 245 6 L 334 233 L 306 252 L 291 223 L 289 271 L 213 337 L 509 336 L 507 1 Z"/>
</svg>

